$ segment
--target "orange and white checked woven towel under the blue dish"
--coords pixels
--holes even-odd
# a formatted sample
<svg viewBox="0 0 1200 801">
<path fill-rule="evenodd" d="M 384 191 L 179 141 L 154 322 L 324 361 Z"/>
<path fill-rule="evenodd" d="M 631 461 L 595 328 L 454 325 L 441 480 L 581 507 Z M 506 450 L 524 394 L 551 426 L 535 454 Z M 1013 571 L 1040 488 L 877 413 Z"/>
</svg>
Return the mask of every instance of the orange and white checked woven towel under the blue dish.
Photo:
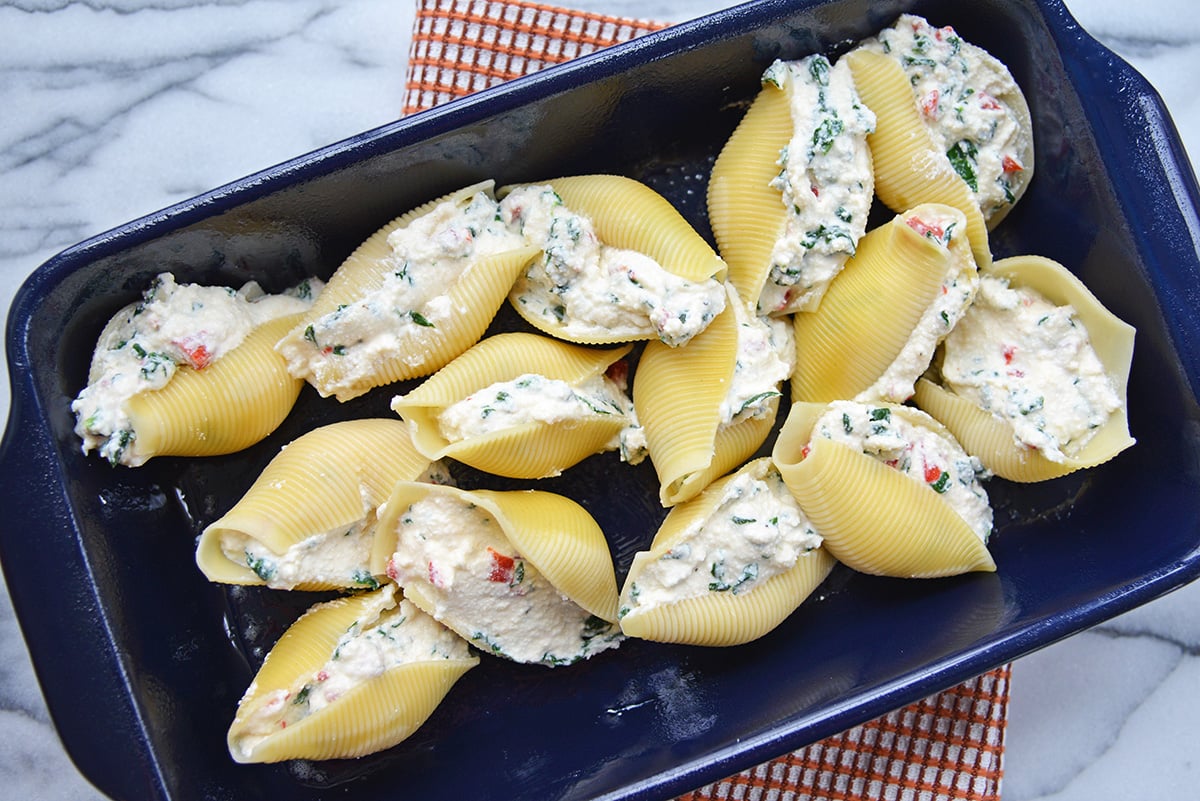
<svg viewBox="0 0 1200 801">
<path fill-rule="evenodd" d="M 665 28 L 520 0 L 416 2 L 406 114 Z M 700 788 L 680 801 L 995 801 L 1010 667 Z"/>
</svg>

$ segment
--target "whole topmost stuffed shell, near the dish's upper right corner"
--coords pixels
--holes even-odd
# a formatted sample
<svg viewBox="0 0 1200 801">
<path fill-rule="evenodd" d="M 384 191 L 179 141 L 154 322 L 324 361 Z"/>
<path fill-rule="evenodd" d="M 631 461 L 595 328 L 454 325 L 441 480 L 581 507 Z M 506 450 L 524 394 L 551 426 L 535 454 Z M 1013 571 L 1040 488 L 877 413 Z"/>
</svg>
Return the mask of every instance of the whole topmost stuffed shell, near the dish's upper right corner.
<svg viewBox="0 0 1200 801">
<path fill-rule="evenodd" d="M 893 211 L 956 206 L 967 217 L 976 260 L 986 265 L 988 229 L 1033 175 L 1030 109 L 1008 67 L 953 28 L 913 14 L 846 60 L 877 115 L 871 151 L 880 199 Z"/>
</svg>

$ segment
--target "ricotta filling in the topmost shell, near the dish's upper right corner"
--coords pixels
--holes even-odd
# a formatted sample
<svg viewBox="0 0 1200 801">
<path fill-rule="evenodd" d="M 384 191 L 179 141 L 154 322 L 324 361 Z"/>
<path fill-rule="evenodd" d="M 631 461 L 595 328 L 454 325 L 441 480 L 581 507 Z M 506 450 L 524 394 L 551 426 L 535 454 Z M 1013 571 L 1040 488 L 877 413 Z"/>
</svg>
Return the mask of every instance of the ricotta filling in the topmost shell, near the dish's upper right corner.
<svg viewBox="0 0 1200 801">
<path fill-rule="evenodd" d="M 1032 134 L 1004 100 L 1020 91 L 1008 68 L 953 28 L 934 28 L 913 14 L 902 14 L 865 47 L 904 67 L 934 141 L 984 217 L 1013 205 Z"/>
</svg>

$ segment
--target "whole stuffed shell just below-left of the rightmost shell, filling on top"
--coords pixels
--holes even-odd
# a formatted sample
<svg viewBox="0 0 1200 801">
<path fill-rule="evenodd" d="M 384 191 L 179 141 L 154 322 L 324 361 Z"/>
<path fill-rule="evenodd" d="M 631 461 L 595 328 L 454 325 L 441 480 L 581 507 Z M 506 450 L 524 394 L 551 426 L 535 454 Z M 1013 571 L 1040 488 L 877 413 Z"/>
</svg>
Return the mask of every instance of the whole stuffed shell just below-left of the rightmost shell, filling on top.
<svg viewBox="0 0 1200 801">
<path fill-rule="evenodd" d="M 996 570 L 983 465 L 919 409 L 793 404 L 772 458 L 848 567 L 898 578 Z"/>
</svg>

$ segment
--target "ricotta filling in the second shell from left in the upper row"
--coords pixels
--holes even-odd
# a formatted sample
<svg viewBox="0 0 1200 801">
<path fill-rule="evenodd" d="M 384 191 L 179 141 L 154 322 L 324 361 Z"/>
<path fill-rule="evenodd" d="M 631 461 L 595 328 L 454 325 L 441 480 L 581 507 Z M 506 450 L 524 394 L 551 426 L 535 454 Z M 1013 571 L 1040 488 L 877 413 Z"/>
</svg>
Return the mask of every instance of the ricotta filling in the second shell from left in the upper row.
<svg viewBox="0 0 1200 801">
<path fill-rule="evenodd" d="M 313 320 L 304 331 L 307 348 L 283 348 L 294 375 L 311 375 L 337 359 L 335 389 L 353 387 L 373 374 L 384 355 L 406 354 L 416 366 L 426 350 L 414 347 L 455 315 L 448 294 L 481 258 L 524 246 L 486 192 L 466 201 L 445 200 L 388 235 L 391 253 L 382 284 L 359 300 Z"/>
</svg>

